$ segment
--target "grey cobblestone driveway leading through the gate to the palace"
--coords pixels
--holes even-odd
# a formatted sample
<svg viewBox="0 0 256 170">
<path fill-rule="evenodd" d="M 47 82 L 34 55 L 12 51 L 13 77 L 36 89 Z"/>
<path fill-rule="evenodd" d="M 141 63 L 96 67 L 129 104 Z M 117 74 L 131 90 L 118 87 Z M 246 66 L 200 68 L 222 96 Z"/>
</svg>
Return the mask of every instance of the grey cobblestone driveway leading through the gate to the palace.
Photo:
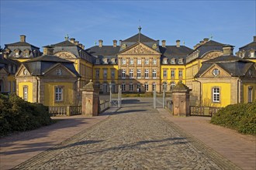
<svg viewBox="0 0 256 170">
<path fill-rule="evenodd" d="M 19 169 L 238 169 L 160 117 L 126 100 L 105 121 L 22 163 Z"/>
</svg>

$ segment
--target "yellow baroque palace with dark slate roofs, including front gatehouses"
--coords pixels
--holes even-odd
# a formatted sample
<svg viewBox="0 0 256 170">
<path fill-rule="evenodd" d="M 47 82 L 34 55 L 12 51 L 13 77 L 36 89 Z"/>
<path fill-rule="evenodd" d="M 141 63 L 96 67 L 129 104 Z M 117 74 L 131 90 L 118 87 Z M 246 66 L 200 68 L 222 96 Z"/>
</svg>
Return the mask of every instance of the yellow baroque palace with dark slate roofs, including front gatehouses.
<svg viewBox="0 0 256 170">
<path fill-rule="evenodd" d="M 0 90 L 17 93 L 29 102 L 46 106 L 81 103 L 81 90 L 89 80 L 100 93 L 171 92 L 182 81 L 195 104 L 225 107 L 256 100 L 256 36 L 240 47 L 203 39 L 190 49 L 180 40 L 168 46 L 165 40 L 139 33 L 85 49 L 74 38 L 40 48 L 26 42 L 5 44 L 0 56 Z"/>
</svg>

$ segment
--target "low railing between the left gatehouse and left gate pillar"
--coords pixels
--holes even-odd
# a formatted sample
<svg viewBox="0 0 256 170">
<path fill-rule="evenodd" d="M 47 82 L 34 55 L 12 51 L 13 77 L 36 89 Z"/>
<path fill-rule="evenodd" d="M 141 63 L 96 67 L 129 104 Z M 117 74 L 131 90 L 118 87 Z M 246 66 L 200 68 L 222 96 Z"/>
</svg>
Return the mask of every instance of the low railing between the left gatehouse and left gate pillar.
<svg viewBox="0 0 256 170">
<path fill-rule="evenodd" d="M 50 106 L 50 116 L 73 116 L 81 114 L 81 106 Z"/>
</svg>

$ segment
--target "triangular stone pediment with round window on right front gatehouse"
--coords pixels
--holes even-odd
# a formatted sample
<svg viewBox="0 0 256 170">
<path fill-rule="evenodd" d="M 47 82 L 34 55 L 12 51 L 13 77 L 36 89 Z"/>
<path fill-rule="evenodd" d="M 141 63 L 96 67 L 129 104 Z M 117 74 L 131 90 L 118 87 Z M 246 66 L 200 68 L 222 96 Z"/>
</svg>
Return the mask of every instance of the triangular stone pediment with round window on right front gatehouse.
<svg viewBox="0 0 256 170">
<path fill-rule="evenodd" d="M 214 75 L 213 70 L 219 70 L 219 74 Z M 227 73 L 226 70 L 223 70 L 223 68 L 221 68 L 217 64 L 213 64 L 212 66 L 209 66 L 209 68 L 204 73 L 202 73 L 200 77 L 218 78 L 218 77 L 227 77 L 227 76 L 231 76 L 230 73 Z"/>
</svg>

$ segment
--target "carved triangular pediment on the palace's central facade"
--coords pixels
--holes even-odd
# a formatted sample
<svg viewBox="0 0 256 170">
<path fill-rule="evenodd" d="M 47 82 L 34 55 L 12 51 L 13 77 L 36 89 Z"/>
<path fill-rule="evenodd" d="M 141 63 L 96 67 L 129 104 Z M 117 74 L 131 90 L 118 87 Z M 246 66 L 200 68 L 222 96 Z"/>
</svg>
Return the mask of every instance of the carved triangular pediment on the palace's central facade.
<svg viewBox="0 0 256 170">
<path fill-rule="evenodd" d="M 129 54 L 129 55 L 137 55 L 137 54 L 155 54 L 160 55 L 161 53 L 158 53 L 154 49 L 151 49 L 150 47 L 144 45 L 143 43 L 137 43 L 134 46 L 130 46 L 127 49 L 124 49 L 123 52 L 120 54 Z"/>
</svg>

